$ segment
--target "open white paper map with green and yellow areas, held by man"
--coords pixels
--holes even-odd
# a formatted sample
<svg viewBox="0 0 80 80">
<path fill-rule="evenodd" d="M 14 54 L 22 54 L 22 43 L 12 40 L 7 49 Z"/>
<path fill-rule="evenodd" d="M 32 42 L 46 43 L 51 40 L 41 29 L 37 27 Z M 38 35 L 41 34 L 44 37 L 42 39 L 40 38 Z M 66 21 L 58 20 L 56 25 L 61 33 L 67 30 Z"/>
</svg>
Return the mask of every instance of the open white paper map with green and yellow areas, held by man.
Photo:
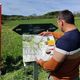
<svg viewBox="0 0 80 80">
<path fill-rule="evenodd" d="M 23 62 L 37 59 L 48 60 L 54 53 L 54 37 L 23 35 Z"/>
</svg>

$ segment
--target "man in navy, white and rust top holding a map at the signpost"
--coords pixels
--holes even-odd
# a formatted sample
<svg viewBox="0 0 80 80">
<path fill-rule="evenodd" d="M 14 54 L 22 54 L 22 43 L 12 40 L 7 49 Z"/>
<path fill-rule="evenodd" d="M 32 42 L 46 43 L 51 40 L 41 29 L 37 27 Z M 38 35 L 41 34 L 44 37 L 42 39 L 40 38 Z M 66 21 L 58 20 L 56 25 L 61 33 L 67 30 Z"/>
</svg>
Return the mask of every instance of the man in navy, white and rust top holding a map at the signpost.
<svg viewBox="0 0 80 80">
<path fill-rule="evenodd" d="M 79 80 L 80 32 L 69 10 L 59 12 L 58 26 L 64 33 L 56 41 L 54 55 L 48 61 L 37 60 L 44 70 L 50 71 L 52 80 Z M 41 35 L 54 35 L 54 32 L 42 32 Z M 55 36 L 55 35 L 54 35 Z"/>
</svg>

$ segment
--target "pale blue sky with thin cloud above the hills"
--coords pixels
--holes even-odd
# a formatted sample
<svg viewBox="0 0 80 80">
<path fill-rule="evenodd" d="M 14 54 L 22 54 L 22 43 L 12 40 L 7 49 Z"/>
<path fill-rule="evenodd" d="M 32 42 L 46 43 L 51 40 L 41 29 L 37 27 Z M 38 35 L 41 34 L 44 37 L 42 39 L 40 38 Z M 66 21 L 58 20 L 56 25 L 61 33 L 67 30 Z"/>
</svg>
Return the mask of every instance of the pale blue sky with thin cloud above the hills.
<svg viewBox="0 0 80 80">
<path fill-rule="evenodd" d="M 69 9 L 80 12 L 80 0 L 2 0 L 2 14 L 42 15 L 51 11 Z"/>
</svg>

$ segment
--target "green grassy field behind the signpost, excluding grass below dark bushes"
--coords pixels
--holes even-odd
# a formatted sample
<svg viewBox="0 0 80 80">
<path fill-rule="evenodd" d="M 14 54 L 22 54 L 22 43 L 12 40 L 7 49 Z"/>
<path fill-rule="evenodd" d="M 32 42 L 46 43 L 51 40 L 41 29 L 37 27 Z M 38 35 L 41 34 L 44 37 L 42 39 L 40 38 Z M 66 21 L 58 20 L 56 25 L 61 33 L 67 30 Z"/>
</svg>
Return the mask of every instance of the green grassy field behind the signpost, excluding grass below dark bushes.
<svg viewBox="0 0 80 80">
<path fill-rule="evenodd" d="M 32 20 L 15 20 L 6 21 L 2 25 L 2 55 L 22 55 L 22 37 L 13 32 L 12 29 L 19 24 L 29 23 L 53 23 L 56 25 L 56 19 L 32 19 Z M 76 20 L 76 26 L 80 29 L 80 20 Z"/>
</svg>

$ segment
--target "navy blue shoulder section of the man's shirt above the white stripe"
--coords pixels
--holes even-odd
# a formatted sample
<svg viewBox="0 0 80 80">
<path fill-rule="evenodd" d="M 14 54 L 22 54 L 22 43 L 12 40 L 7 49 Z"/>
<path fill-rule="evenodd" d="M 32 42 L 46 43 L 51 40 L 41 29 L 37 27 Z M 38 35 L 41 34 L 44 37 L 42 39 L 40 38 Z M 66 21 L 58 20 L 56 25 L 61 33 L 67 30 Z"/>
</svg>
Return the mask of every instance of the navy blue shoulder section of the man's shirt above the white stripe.
<svg viewBox="0 0 80 80">
<path fill-rule="evenodd" d="M 79 33 L 80 34 L 80 33 Z M 57 50 L 63 50 L 63 52 L 71 52 L 80 48 L 80 35 L 75 33 L 75 35 L 68 34 L 62 36 L 56 42 Z"/>
</svg>

